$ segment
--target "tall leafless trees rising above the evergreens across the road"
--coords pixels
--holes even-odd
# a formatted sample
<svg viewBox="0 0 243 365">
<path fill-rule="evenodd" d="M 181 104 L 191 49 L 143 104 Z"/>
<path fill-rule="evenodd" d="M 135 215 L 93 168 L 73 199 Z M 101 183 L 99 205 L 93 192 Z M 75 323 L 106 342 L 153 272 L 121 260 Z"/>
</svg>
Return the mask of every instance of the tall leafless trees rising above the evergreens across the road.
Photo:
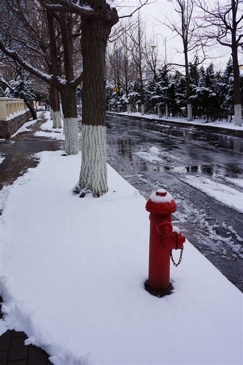
<svg viewBox="0 0 243 365">
<path fill-rule="evenodd" d="M 187 108 L 187 118 L 191 121 L 195 115 L 193 107 L 194 91 L 192 84 L 194 80 L 191 76 L 192 65 L 198 67 L 205 63 L 209 58 L 208 50 L 219 43 L 231 49 L 232 57 L 232 87 L 235 124 L 241 125 L 241 99 L 240 99 L 240 78 L 237 50 L 243 46 L 242 42 L 242 12 L 240 11 L 239 0 L 212 0 L 210 3 L 199 0 L 175 0 L 172 3 L 174 12 L 177 14 L 176 21 L 173 15 L 166 16 L 161 23 L 165 24 L 172 34 L 181 40 L 181 58 L 184 59 L 179 63 L 173 63 L 170 60 L 164 60 L 164 65 L 168 70 L 177 70 L 184 76 L 186 87 L 186 101 L 183 107 Z M 145 25 L 140 17 L 134 23 L 130 23 L 128 31 L 123 34 L 118 41 L 113 42 L 108 52 L 108 80 L 110 84 L 123 87 L 122 98 L 118 93 L 120 102 L 128 100 L 128 84 L 137 81 L 134 85 L 134 92 L 140 95 L 141 114 L 144 114 L 146 99 L 145 85 L 152 78 L 157 83 L 159 78 L 159 69 L 161 62 L 158 60 L 156 47 L 156 37 L 161 34 L 155 34 L 153 39 L 149 39 L 146 33 Z M 165 39 L 164 39 L 165 40 Z M 178 74 L 176 74 L 178 79 Z M 195 84 L 196 85 L 196 84 Z M 196 85 L 197 86 L 197 85 Z M 168 83 L 165 84 L 168 87 Z M 179 91 L 178 91 L 179 93 Z M 136 98 L 136 95 L 133 94 Z M 132 95 L 130 94 L 130 98 Z M 198 99 L 197 99 L 198 100 Z M 229 111 L 229 114 L 231 110 Z M 206 113 L 207 116 L 208 112 Z"/>
</svg>

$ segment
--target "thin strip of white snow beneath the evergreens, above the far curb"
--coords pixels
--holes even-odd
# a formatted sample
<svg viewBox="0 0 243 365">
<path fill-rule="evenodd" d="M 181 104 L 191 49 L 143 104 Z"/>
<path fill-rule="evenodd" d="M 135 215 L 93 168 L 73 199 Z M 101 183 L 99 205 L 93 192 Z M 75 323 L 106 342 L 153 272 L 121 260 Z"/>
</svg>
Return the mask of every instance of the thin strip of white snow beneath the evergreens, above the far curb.
<svg viewBox="0 0 243 365">
<path fill-rule="evenodd" d="M 155 116 L 154 114 L 144 114 L 144 116 L 141 116 L 141 113 L 130 113 L 128 114 L 126 111 L 124 112 L 114 112 L 114 114 L 117 115 L 124 115 L 124 116 L 130 116 L 130 117 L 140 117 L 141 119 L 156 119 L 159 121 L 163 121 L 163 122 L 180 122 L 180 123 L 184 123 L 184 124 L 188 124 L 188 125 L 206 125 L 206 126 L 212 126 L 212 127 L 217 127 L 217 128 L 222 128 L 222 129 L 233 129 L 233 130 L 243 130 L 243 127 L 239 127 L 239 126 L 235 126 L 234 125 L 234 120 L 232 120 L 232 122 L 226 122 L 226 121 L 215 121 L 215 122 L 208 122 L 206 123 L 206 121 L 204 119 L 194 119 L 192 122 L 188 122 L 187 118 L 172 118 L 169 117 L 168 119 L 166 119 L 165 117 L 162 118 L 158 118 L 158 116 Z"/>
</svg>

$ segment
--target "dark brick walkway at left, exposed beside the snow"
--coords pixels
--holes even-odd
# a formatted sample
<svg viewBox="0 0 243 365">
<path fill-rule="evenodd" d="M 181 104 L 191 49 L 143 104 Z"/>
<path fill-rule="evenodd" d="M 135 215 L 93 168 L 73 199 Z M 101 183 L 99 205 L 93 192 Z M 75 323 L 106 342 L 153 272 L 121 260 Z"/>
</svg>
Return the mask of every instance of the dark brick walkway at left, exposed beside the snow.
<svg viewBox="0 0 243 365">
<path fill-rule="evenodd" d="M 63 141 L 34 137 L 44 123 L 44 113 L 28 131 L 19 133 L 14 138 L 0 141 L 0 157 L 5 157 L 0 164 L 0 214 L 2 213 L 1 189 L 12 184 L 23 175 L 29 167 L 35 167 L 38 160 L 35 153 L 40 151 L 55 151 L 63 149 Z M 1 314 L 0 297 L 0 318 Z M 48 354 L 33 346 L 24 344 L 27 336 L 24 332 L 7 331 L 0 336 L 0 365 L 51 365 Z"/>
</svg>

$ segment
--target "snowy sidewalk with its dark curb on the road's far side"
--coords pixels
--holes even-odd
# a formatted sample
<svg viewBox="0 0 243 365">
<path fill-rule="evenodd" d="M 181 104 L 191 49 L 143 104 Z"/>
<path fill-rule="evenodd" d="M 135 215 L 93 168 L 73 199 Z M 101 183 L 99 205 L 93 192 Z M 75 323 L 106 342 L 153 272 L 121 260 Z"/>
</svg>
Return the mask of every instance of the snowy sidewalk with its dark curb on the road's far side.
<svg viewBox="0 0 243 365">
<path fill-rule="evenodd" d="M 107 111 L 107 115 L 116 115 L 126 118 L 134 118 L 134 119 L 145 119 L 155 122 L 161 122 L 161 123 L 168 123 L 172 125 L 178 125 L 178 126 L 184 126 L 184 127 L 195 127 L 195 128 L 201 128 L 201 129 L 207 129 L 207 130 L 214 130 L 215 132 L 228 132 L 230 134 L 233 134 L 237 137 L 243 137 L 243 126 L 235 126 L 234 121 L 231 123 L 229 122 L 208 122 L 206 123 L 203 119 L 194 119 L 192 122 L 188 122 L 187 118 L 168 118 L 165 117 L 159 118 L 158 116 L 155 116 L 153 114 L 144 114 L 144 116 L 141 116 L 141 113 L 130 113 L 128 114 L 126 111 L 124 112 L 113 112 L 113 111 Z"/>
</svg>

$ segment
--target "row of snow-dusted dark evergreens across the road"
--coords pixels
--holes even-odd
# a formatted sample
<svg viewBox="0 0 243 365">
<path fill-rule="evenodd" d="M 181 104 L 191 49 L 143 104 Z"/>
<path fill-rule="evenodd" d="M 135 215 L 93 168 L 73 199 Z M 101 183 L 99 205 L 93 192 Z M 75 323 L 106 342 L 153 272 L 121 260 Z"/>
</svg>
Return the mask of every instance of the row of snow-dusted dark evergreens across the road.
<svg viewBox="0 0 243 365">
<path fill-rule="evenodd" d="M 190 103 L 193 118 L 211 120 L 232 120 L 234 115 L 233 65 L 230 59 L 224 72 L 215 72 L 213 63 L 208 67 L 198 66 L 195 61 L 189 67 Z M 243 95 L 243 75 L 241 75 L 241 97 Z M 133 111 L 141 111 L 141 85 L 132 83 L 133 91 L 124 88 L 117 93 L 115 85 L 107 84 L 107 109 L 127 110 L 130 104 Z M 187 87 L 185 75 L 180 72 L 169 72 L 164 66 L 157 70 L 155 76 L 144 85 L 144 107 L 146 113 L 166 115 L 166 105 L 172 117 L 187 116 Z"/>
</svg>

